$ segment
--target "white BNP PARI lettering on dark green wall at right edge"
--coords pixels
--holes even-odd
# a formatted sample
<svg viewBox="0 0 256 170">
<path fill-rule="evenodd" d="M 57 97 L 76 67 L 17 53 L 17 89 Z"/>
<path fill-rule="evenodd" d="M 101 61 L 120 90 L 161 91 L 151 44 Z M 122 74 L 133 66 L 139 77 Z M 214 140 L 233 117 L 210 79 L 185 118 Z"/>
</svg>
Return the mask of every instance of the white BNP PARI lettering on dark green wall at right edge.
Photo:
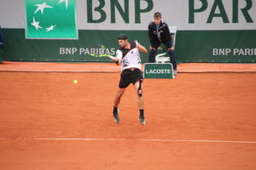
<svg viewBox="0 0 256 170">
<path fill-rule="evenodd" d="M 255 56 L 256 48 L 212 48 L 213 56 Z"/>
</svg>

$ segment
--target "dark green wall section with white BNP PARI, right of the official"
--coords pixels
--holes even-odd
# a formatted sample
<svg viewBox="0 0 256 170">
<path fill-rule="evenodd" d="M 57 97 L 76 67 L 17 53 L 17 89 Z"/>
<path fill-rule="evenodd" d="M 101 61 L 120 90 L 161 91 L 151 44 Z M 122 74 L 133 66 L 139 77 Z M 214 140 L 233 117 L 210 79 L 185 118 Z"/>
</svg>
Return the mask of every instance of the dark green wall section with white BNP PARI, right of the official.
<svg viewBox="0 0 256 170">
<path fill-rule="evenodd" d="M 177 56 L 183 62 L 256 61 L 255 31 L 183 31 L 177 33 Z"/>
</svg>

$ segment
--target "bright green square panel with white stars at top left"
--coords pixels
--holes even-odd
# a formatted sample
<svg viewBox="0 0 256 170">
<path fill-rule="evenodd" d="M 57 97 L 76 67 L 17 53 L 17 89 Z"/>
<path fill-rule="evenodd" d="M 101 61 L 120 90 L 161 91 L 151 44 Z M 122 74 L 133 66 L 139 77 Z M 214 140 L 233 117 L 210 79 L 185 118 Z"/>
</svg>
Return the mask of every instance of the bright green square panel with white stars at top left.
<svg viewBox="0 0 256 170">
<path fill-rule="evenodd" d="M 25 0 L 26 38 L 78 39 L 75 0 Z"/>
</svg>

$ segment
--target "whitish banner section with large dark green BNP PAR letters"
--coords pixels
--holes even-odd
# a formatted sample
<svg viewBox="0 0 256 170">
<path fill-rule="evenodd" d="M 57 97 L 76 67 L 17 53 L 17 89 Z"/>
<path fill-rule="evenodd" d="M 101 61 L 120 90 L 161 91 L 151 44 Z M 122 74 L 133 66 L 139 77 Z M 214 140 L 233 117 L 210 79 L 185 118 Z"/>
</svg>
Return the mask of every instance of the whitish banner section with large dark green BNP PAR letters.
<svg viewBox="0 0 256 170">
<path fill-rule="evenodd" d="M 156 11 L 178 30 L 256 30 L 254 0 L 88 0 L 85 5 L 83 30 L 147 30 Z"/>
</svg>

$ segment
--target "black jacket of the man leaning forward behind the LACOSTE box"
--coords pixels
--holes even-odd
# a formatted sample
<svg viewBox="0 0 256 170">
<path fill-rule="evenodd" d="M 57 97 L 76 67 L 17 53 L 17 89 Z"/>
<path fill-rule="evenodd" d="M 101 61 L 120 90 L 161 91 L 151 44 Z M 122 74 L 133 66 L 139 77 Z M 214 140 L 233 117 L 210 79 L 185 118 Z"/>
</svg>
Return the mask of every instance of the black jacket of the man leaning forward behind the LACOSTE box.
<svg viewBox="0 0 256 170">
<path fill-rule="evenodd" d="M 148 37 L 152 48 L 157 48 L 160 42 L 165 43 L 168 48 L 172 47 L 172 38 L 169 27 L 163 20 L 160 21 L 160 26 L 157 29 L 154 21 L 148 25 Z"/>
</svg>

